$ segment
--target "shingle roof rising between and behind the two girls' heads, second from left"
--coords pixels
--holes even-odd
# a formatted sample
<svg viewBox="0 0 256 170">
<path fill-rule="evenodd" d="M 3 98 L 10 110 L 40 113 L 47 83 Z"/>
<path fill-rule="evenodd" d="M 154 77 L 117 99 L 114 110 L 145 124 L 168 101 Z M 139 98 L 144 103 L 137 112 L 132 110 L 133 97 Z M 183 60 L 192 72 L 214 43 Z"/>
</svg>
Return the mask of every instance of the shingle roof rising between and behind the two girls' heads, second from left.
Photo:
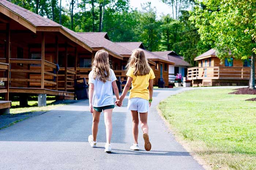
<svg viewBox="0 0 256 170">
<path fill-rule="evenodd" d="M 93 40 L 93 42 L 100 44 L 119 55 L 131 55 L 132 52 L 122 46 L 105 38 L 106 32 L 78 32 L 78 35 L 84 37 L 85 39 Z"/>
</svg>

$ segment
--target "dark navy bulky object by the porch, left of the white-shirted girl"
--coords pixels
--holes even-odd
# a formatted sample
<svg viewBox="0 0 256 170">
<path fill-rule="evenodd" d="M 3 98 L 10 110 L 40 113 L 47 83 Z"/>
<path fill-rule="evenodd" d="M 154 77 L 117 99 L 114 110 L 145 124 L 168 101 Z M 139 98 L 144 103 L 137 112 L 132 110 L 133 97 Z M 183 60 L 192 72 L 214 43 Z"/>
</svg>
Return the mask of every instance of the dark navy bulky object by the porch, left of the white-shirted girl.
<svg viewBox="0 0 256 170">
<path fill-rule="evenodd" d="M 82 82 L 80 80 L 83 80 Z M 76 99 L 81 100 L 81 99 L 88 99 L 88 84 L 86 83 L 85 78 L 81 79 L 75 79 L 75 94 L 76 94 Z"/>
</svg>

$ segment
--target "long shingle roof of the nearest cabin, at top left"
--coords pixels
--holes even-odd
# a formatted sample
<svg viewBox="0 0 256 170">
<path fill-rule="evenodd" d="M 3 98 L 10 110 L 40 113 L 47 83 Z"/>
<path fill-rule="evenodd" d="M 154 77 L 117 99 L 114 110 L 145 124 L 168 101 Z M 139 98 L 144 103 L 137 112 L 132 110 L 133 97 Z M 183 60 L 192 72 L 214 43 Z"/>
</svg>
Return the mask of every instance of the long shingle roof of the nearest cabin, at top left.
<svg viewBox="0 0 256 170">
<path fill-rule="evenodd" d="M 102 47 L 100 44 L 94 43 L 93 41 L 84 39 L 83 37 L 79 36 L 76 32 L 64 27 L 63 25 L 60 25 L 48 18 L 42 17 L 40 15 L 37 15 L 34 12 L 31 12 L 25 8 L 22 8 L 18 5 L 15 5 L 7 0 L 0 0 L 0 4 L 4 7 L 10 9 L 12 12 L 16 13 L 20 17 L 27 20 L 29 23 L 33 24 L 35 27 L 60 27 L 64 29 L 67 33 L 69 33 L 71 36 L 75 37 L 79 41 L 83 42 L 86 46 L 89 46 L 91 48 L 95 47 Z"/>
</svg>

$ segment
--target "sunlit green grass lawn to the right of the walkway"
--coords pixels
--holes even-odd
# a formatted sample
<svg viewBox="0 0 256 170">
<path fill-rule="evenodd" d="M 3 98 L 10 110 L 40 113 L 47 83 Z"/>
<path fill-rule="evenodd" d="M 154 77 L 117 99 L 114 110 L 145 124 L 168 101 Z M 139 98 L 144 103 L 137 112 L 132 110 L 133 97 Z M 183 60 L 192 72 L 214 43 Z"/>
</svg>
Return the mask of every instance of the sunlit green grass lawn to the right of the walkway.
<svg viewBox="0 0 256 170">
<path fill-rule="evenodd" d="M 212 169 L 256 169 L 255 95 L 230 89 L 187 91 L 159 104 L 163 116 L 192 151 Z"/>
</svg>

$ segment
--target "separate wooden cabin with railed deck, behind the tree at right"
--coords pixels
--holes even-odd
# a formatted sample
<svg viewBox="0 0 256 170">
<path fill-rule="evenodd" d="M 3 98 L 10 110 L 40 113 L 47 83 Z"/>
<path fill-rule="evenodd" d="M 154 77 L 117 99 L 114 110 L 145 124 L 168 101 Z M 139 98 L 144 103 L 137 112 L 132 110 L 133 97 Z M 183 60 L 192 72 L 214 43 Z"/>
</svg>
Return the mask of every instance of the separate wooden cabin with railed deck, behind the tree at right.
<svg viewBox="0 0 256 170">
<path fill-rule="evenodd" d="M 188 80 L 193 86 L 248 86 L 251 59 L 221 61 L 211 49 L 195 58 L 198 67 L 188 68 Z"/>
</svg>

